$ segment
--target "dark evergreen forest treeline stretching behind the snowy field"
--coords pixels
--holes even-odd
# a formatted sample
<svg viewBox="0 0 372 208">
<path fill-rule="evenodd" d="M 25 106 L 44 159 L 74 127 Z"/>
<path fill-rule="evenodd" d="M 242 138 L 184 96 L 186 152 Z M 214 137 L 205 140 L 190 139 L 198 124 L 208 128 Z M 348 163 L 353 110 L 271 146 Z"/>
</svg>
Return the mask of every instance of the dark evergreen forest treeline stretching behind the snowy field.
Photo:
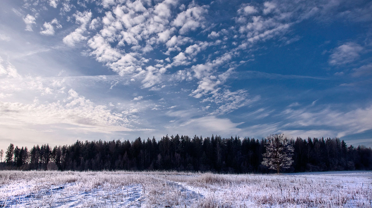
<svg viewBox="0 0 372 208">
<path fill-rule="evenodd" d="M 371 170 L 372 149 L 338 138 L 291 139 L 293 164 L 287 172 Z M 222 173 L 271 172 L 261 164 L 266 139 L 163 136 L 160 141 L 76 141 L 72 145 L 14 147 L 0 169 L 22 170 L 179 170 Z"/>
</svg>

